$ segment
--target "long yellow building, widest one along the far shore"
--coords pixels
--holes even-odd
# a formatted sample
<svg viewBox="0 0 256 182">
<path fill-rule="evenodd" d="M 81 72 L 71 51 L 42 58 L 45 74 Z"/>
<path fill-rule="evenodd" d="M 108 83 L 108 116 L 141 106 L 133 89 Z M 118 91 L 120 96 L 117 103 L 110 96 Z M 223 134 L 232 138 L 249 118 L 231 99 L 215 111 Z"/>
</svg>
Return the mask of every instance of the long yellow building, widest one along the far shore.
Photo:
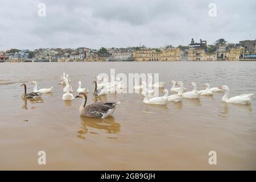
<svg viewBox="0 0 256 182">
<path fill-rule="evenodd" d="M 134 51 L 135 61 L 180 61 L 180 49 L 168 48 L 162 51 L 155 49 L 143 49 Z"/>
</svg>

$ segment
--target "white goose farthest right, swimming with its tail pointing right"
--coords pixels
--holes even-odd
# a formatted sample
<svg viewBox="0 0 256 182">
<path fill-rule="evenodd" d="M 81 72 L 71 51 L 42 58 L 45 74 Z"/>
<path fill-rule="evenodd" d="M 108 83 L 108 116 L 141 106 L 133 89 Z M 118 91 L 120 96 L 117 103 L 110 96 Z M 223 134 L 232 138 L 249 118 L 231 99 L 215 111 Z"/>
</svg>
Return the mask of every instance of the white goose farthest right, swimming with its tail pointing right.
<svg viewBox="0 0 256 182">
<path fill-rule="evenodd" d="M 223 102 L 228 102 L 228 103 L 234 103 L 234 104 L 250 104 L 250 97 L 253 96 L 254 93 L 248 93 L 248 94 L 242 94 L 240 96 L 236 97 L 229 97 L 229 88 L 226 85 L 223 85 L 219 87 L 219 89 L 224 90 L 224 96 L 222 97 Z"/>
</svg>

